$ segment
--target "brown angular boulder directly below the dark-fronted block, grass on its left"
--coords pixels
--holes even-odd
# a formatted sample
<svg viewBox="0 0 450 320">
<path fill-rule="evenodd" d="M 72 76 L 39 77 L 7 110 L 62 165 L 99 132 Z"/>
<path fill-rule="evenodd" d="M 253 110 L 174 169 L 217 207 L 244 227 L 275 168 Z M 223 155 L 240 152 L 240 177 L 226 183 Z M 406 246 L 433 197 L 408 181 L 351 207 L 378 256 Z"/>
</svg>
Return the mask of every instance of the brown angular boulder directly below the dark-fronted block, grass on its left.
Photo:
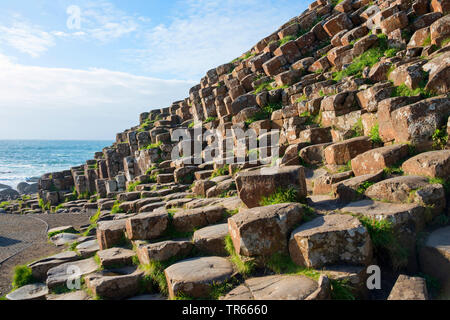
<svg viewBox="0 0 450 320">
<path fill-rule="evenodd" d="M 303 207 L 296 203 L 253 208 L 228 219 L 228 230 L 238 254 L 270 258 L 287 253 L 289 234 L 302 217 Z"/>
</svg>

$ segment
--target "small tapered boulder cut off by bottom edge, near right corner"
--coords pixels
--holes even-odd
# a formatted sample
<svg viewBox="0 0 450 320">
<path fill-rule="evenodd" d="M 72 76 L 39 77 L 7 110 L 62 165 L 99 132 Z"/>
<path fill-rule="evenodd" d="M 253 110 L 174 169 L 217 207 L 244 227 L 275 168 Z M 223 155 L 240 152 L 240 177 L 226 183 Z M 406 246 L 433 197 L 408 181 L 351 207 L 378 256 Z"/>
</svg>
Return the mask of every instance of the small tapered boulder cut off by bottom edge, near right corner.
<svg viewBox="0 0 450 320">
<path fill-rule="evenodd" d="M 400 275 L 392 288 L 388 300 L 428 300 L 424 278 Z"/>
</svg>

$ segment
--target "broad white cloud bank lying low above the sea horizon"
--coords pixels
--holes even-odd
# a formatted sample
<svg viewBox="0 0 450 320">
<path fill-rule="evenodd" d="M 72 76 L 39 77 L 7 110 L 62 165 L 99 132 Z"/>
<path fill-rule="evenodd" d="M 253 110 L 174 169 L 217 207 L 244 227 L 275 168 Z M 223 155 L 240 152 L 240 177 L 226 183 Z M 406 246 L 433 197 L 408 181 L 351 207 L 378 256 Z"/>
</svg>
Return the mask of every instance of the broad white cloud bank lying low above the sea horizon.
<svg viewBox="0 0 450 320">
<path fill-rule="evenodd" d="M 104 69 L 43 68 L 0 55 L 0 139 L 111 139 L 139 113 L 187 96 L 192 81 Z"/>
</svg>

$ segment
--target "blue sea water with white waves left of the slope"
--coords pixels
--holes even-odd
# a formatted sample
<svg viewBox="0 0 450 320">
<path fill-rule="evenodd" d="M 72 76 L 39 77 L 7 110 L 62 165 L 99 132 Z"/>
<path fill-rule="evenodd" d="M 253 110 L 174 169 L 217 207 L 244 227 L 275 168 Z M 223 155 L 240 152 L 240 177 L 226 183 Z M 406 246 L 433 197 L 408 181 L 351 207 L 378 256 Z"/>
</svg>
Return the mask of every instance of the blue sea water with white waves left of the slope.
<svg viewBox="0 0 450 320">
<path fill-rule="evenodd" d="M 0 184 L 15 188 L 44 173 L 67 170 L 93 159 L 112 141 L 0 140 Z"/>
</svg>

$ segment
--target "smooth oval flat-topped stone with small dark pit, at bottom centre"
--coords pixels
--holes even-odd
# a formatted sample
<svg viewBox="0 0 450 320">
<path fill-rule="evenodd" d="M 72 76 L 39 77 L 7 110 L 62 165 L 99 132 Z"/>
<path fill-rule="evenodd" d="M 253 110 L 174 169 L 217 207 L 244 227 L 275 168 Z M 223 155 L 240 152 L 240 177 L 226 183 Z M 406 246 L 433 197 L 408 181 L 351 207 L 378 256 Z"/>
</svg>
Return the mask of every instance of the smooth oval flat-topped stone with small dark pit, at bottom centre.
<svg viewBox="0 0 450 320">
<path fill-rule="evenodd" d="M 233 266 L 225 258 L 201 257 L 175 263 L 164 273 L 171 299 L 180 294 L 192 298 L 208 298 L 213 285 L 231 278 Z"/>
</svg>

